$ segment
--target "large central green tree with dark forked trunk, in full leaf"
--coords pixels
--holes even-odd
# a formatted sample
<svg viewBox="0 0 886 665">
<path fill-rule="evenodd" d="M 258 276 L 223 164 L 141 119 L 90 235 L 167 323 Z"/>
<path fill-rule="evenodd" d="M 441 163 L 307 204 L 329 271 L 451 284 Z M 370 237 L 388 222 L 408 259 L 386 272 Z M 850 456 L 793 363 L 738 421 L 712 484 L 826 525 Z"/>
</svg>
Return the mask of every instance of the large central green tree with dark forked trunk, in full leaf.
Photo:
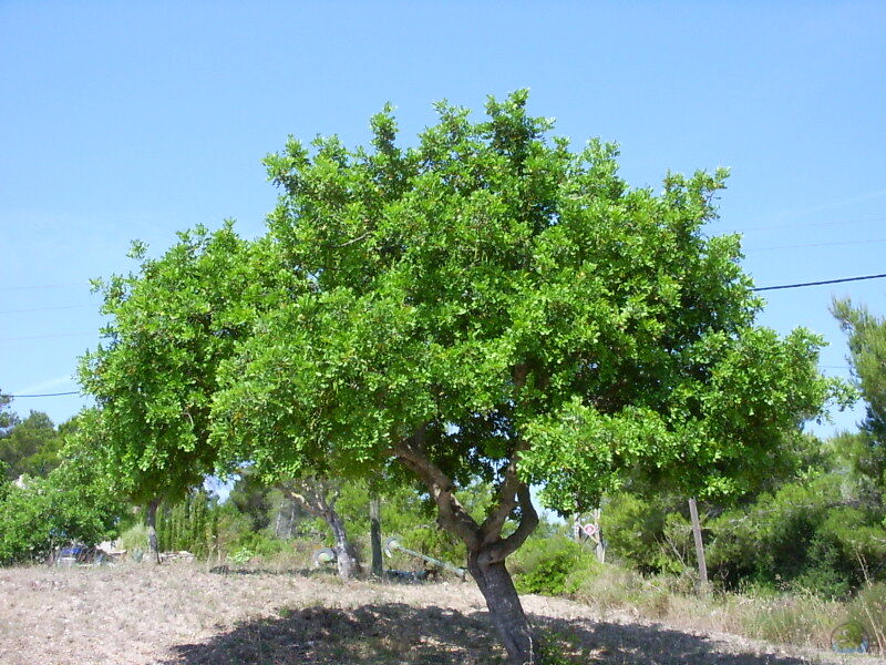
<svg viewBox="0 0 886 665">
<path fill-rule="evenodd" d="M 210 437 L 269 477 L 411 473 L 512 663 L 536 655 L 504 563 L 538 523 L 530 482 L 566 514 L 626 475 L 741 491 L 828 393 L 821 340 L 755 328 L 738 239 L 701 231 L 723 172 L 632 190 L 614 146 L 574 153 L 525 103 L 441 104 L 411 149 L 388 110 L 372 150 L 268 157 L 295 280 L 222 364 Z M 477 478 L 482 519 L 459 497 Z"/>
</svg>

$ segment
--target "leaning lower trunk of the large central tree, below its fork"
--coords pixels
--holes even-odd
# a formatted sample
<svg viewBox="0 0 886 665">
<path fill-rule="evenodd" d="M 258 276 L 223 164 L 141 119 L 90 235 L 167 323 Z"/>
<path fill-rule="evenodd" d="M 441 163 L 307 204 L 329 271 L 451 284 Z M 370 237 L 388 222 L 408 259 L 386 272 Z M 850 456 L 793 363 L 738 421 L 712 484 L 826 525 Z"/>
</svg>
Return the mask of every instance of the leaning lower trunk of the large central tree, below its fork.
<svg viewBox="0 0 886 665">
<path fill-rule="evenodd" d="M 490 563 L 487 552 L 468 552 L 467 569 L 486 600 L 490 617 L 502 636 L 509 665 L 536 665 L 542 662 L 533 641 L 529 622 L 523 612 L 517 590 L 503 561 Z"/>
</svg>

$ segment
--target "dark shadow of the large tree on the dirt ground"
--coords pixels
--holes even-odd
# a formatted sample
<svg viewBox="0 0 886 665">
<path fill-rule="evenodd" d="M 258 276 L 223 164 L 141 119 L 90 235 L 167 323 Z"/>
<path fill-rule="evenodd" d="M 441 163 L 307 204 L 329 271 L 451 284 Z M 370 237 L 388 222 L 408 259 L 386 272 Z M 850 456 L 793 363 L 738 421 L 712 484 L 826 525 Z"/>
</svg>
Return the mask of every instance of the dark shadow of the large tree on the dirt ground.
<svg viewBox="0 0 886 665">
<path fill-rule="evenodd" d="M 503 662 L 485 612 L 401 603 L 352 610 L 282 608 L 199 644 L 171 649 L 162 665 L 481 665 Z M 801 658 L 725 653 L 718 643 L 655 626 L 530 616 L 552 647 L 575 663 L 800 665 Z"/>
</svg>

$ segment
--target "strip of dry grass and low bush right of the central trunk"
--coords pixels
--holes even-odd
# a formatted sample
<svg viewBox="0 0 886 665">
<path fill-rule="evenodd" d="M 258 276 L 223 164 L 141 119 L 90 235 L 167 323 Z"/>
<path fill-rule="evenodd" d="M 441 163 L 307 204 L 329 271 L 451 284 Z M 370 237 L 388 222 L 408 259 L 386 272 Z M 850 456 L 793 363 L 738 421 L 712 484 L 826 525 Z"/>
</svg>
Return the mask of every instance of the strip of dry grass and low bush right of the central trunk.
<svg viewBox="0 0 886 665">
<path fill-rule="evenodd" d="M 569 597 L 602 616 L 626 613 L 674 626 L 825 649 L 838 624 L 856 621 L 866 626 L 870 649 L 886 653 L 883 583 L 866 586 L 848 602 L 769 589 L 699 594 L 689 573 L 645 576 L 601 564 L 590 550 L 565 538 L 528 541 L 508 567 L 521 593 Z"/>
</svg>

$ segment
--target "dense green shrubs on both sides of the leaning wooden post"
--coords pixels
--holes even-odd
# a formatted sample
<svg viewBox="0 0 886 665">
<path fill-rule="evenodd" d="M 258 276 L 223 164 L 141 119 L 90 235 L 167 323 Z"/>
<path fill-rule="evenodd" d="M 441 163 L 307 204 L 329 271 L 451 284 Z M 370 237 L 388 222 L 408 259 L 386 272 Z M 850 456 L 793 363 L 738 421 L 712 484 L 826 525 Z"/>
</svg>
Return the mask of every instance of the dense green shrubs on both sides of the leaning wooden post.
<svg viewBox="0 0 886 665">
<path fill-rule="evenodd" d="M 886 580 L 886 511 L 859 470 L 865 434 L 806 438 L 793 471 L 738 503 L 702 504 L 708 569 L 728 589 L 765 587 L 845 597 Z M 610 556 L 648 573 L 694 566 L 686 498 L 667 492 L 607 498 Z"/>
</svg>

